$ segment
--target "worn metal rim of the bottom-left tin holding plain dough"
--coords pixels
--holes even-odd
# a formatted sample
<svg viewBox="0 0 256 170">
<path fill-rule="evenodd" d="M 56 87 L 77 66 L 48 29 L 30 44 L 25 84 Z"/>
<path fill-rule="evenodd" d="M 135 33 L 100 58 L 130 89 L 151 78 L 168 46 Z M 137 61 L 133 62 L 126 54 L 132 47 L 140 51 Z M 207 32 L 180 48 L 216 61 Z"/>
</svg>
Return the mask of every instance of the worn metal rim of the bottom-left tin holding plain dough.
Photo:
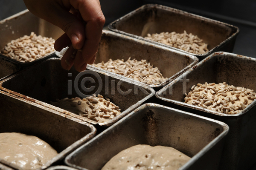
<svg viewBox="0 0 256 170">
<path fill-rule="evenodd" d="M 59 115 L 61 117 L 64 117 L 64 118 L 68 118 L 70 119 L 71 121 L 75 121 L 79 124 L 83 124 L 85 126 L 87 126 L 89 129 L 90 129 L 90 133 L 88 133 L 87 135 L 85 135 L 84 137 L 82 137 L 81 139 L 75 141 L 73 144 L 71 144 L 69 147 L 67 147 L 66 149 L 62 150 L 60 153 L 58 153 L 57 156 L 53 157 L 52 159 L 50 159 L 49 161 L 47 161 L 43 166 L 41 166 L 40 168 L 38 168 L 37 170 L 43 170 L 43 169 L 46 169 L 47 167 L 50 167 L 52 164 L 54 164 L 55 162 L 57 161 L 60 161 L 61 159 L 64 159 L 65 156 L 67 156 L 69 153 L 71 153 L 71 151 L 73 150 L 73 148 L 75 147 L 78 147 L 80 145 L 82 145 L 83 143 L 89 141 L 91 138 L 93 138 L 95 135 L 96 135 L 96 128 L 92 125 L 92 124 L 89 124 L 85 121 L 82 121 L 82 120 L 79 120 L 77 118 L 74 118 L 70 115 L 66 115 L 64 113 L 61 113 L 61 112 L 58 112 L 54 109 L 50 109 L 50 108 L 47 108 L 45 106 L 42 106 L 40 104 L 37 104 L 35 102 L 32 102 L 32 101 L 28 101 L 26 100 L 25 98 L 20 98 L 20 97 L 17 97 L 16 95 L 13 95 L 13 94 L 10 94 L 8 92 L 4 92 L 4 91 L 1 91 L 0 90 L 0 93 L 4 94 L 4 95 L 8 95 L 9 97 L 12 97 L 12 98 L 15 98 L 17 100 L 20 100 L 20 101 L 23 101 L 25 103 L 28 103 L 30 105 L 33 105 L 35 107 L 39 107 L 41 109 L 44 109 L 44 110 L 47 110 L 48 112 L 51 112 L 52 114 L 56 114 L 56 115 Z M 15 165 L 15 164 L 12 164 L 8 161 L 5 161 L 3 159 L 0 158 L 0 164 L 4 164 L 8 167 L 11 167 L 11 168 L 14 168 L 14 169 L 17 169 L 17 170 L 26 170 L 26 169 L 23 169 L 23 168 L 20 168 L 19 166 Z"/>
</svg>

